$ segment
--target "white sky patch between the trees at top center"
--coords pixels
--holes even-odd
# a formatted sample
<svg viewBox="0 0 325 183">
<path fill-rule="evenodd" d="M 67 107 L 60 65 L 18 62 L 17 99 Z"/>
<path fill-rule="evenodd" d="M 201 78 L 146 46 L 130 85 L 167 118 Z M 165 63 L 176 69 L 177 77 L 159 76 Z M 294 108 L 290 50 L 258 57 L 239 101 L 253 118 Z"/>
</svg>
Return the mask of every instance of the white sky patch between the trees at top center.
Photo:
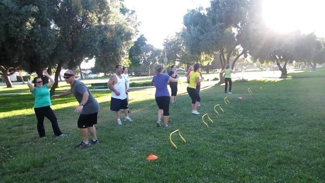
<svg viewBox="0 0 325 183">
<path fill-rule="evenodd" d="M 187 10 L 209 7 L 210 0 L 124 0 L 124 5 L 136 11 L 141 22 L 139 35 L 144 34 L 147 44 L 163 48 L 164 39 L 183 27 Z"/>
</svg>

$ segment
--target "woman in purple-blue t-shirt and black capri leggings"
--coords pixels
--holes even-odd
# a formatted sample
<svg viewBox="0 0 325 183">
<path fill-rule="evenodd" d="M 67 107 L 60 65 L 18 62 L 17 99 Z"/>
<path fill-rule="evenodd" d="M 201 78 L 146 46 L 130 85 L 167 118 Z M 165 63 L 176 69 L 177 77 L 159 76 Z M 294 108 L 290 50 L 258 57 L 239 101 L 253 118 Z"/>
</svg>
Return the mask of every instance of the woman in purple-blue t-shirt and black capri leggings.
<svg viewBox="0 0 325 183">
<path fill-rule="evenodd" d="M 157 126 L 160 127 L 160 119 L 164 114 L 164 127 L 169 127 L 169 103 L 170 95 L 167 88 L 167 82 L 177 82 L 178 78 L 172 78 L 167 74 L 163 73 L 163 65 L 157 65 L 157 74 L 152 78 L 152 84 L 156 87 L 155 99 L 158 105 L 158 120 Z"/>
</svg>

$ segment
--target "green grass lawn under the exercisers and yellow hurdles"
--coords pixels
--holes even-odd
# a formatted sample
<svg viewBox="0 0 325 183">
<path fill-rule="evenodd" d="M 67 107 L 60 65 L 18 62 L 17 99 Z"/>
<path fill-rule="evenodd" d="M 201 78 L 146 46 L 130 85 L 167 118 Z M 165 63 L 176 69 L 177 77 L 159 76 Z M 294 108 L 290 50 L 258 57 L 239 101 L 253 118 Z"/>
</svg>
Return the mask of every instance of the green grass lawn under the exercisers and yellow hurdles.
<svg viewBox="0 0 325 183">
<path fill-rule="evenodd" d="M 60 129 L 48 119 L 47 139 L 38 137 L 31 94 L 0 95 L 0 176 L 2 182 L 324 182 L 324 78 L 234 82 L 201 89 L 201 114 L 190 113 L 186 84 L 170 108 L 171 128 L 155 126 L 154 88 L 129 93 L 133 123 L 116 125 L 110 94 L 92 92 L 101 110 L 100 144 L 77 149 L 78 105 L 73 96 L 52 100 Z M 260 88 L 262 87 L 262 88 Z M 248 94 L 250 88 L 253 94 Z M 225 105 L 228 97 L 230 105 Z M 238 97 L 243 100 L 239 101 Z M 224 113 L 213 107 L 220 104 Z M 124 117 L 122 117 L 122 120 Z M 169 134 L 179 129 L 169 142 Z M 90 139 L 90 137 L 89 137 Z M 146 160 L 149 154 L 158 159 Z"/>
</svg>

